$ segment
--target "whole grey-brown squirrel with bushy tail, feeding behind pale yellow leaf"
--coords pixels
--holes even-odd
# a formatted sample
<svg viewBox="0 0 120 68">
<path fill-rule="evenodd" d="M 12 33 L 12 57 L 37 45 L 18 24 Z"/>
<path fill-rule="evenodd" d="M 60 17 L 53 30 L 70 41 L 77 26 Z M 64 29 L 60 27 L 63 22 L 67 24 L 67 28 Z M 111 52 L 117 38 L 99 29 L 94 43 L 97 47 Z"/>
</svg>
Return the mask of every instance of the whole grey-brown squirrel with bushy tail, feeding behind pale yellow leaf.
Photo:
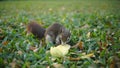
<svg viewBox="0 0 120 68">
<path fill-rule="evenodd" d="M 32 33 L 39 40 L 45 37 L 47 43 L 65 44 L 70 41 L 70 31 L 59 23 L 53 23 L 47 29 L 37 22 L 30 22 L 27 26 L 27 33 Z"/>
</svg>

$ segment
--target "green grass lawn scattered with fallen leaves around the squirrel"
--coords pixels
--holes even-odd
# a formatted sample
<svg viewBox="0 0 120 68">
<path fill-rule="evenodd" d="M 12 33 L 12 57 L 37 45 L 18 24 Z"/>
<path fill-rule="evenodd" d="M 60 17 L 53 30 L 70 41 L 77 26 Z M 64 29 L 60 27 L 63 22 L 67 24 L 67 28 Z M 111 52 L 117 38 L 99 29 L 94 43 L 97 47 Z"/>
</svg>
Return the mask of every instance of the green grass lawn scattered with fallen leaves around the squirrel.
<svg viewBox="0 0 120 68">
<path fill-rule="evenodd" d="M 120 1 L 1 1 L 0 2 L 0 67 L 53 67 L 53 63 L 66 68 L 101 66 L 110 67 L 114 56 L 120 57 Z M 33 35 L 26 36 L 26 25 L 35 20 L 47 28 L 60 22 L 71 30 L 70 45 L 84 43 L 82 53 L 94 53 L 94 58 L 70 61 L 51 60 L 46 49 L 29 49 L 39 45 Z M 87 27 L 84 27 L 88 25 Z M 91 33 L 90 37 L 86 35 Z M 103 44 L 98 44 L 103 43 Z M 104 45 L 107 44 L 107 47 Z M 104 48 L 100 50 L 100 48 Z M 100 51 L 100 53 L 97 53 Z M 21 52 L 22 54 L 20 54 Z M 118 53 L 119 52 L 119 53 Z M 75 53 L 75 55 L 72 55 Z M 67 57 L 80 57 L 78 49 L 70 49 Z M 94 61 L 99 61 L 95 63 Z M 92 65 L 91 65 L 92 64 Z"/>
</svg>

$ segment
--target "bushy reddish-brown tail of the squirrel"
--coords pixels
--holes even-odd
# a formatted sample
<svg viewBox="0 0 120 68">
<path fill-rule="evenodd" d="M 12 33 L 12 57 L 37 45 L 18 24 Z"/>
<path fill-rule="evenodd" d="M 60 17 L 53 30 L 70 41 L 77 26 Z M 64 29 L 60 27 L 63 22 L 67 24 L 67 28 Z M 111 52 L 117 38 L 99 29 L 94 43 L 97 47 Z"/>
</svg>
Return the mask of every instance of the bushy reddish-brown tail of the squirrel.
<svg viewBox="0 0 120 68">
<path fill-rule="evenodd" d="M 41 25 L 39 25 L 37 22 L 35 21 L 31 21 L 28 25 L 27 25 L 27 34 L 32 33 L 33 35 L 35 35 L 39 40 L 41 40 L 42 38 L 44 38 L 44 34 L 45 34 L 46 29 L 43 28 Z"/>
</svg>

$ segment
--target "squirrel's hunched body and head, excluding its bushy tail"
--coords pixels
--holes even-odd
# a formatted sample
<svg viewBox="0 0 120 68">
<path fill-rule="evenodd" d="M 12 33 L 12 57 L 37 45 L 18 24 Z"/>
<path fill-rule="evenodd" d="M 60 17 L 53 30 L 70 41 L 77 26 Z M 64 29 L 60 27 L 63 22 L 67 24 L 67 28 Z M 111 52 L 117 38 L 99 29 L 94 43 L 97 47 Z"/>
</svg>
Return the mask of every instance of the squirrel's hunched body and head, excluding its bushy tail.
<svg viewBox="0 0 120 68">
<path fill-rule="evenodd" d="M 70 31 L 59 23 L 53 23 L 45 31 L 46 43 L 66 44 L 70 40 Z"/>
</svg>

